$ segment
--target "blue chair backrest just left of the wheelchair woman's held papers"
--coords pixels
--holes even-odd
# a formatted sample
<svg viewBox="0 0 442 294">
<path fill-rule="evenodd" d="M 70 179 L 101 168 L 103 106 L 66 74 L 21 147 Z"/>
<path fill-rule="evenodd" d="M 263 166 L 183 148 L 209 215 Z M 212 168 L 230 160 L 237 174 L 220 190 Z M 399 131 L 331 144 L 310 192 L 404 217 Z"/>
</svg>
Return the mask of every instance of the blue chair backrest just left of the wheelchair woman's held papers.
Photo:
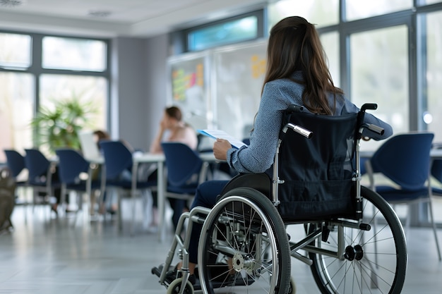
<svg viewBox="0 0 442 294">
<path fill-rule="evenodd" d="M 199 176 L 203 161 L 198 153 L 179 142 L 162 142 L 161 146 L 166 157 L 169 185 L 180 187 L 188 184 L 195 175 Z M 198 183 L 198 178 L 193 182 Z"/>
</svg>

